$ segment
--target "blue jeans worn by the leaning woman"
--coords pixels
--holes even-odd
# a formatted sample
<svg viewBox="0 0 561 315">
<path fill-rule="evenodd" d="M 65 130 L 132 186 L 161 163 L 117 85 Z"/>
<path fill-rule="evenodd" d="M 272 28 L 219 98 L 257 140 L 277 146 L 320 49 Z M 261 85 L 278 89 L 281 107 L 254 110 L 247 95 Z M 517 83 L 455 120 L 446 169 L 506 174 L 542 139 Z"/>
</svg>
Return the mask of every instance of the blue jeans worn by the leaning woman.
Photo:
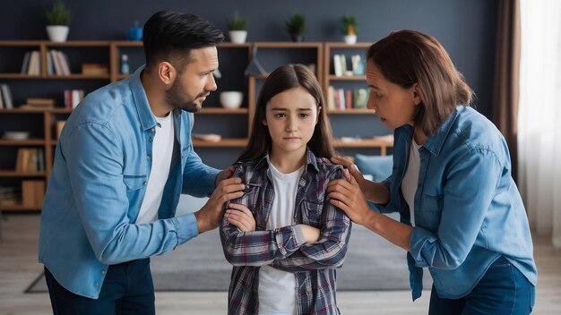
<svg viewBox="0 0 561 315">
<path fill-rule="evenodd" d="M 501 256 L 471 292 L 460 299 L 440 298 L 433 285 L 428 314 L 530 314 L 534 298 L 534 285 Z"/>
</svg>

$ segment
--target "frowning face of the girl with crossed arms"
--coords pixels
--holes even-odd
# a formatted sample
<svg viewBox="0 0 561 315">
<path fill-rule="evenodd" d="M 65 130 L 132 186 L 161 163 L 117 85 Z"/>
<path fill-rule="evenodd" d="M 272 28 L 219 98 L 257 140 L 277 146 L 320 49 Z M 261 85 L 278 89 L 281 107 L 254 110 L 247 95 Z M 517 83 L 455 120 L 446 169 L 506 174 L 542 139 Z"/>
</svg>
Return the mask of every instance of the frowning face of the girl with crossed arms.
<svg viewBox="0 0 561 315">
<path fill-rule="evenodd" d="M 272 97 L 263 120 L 271 134 L 272 154 L 304 155 L 317 120 L 318 106 L 306 89 L 287 89 Z"/>
</svg>

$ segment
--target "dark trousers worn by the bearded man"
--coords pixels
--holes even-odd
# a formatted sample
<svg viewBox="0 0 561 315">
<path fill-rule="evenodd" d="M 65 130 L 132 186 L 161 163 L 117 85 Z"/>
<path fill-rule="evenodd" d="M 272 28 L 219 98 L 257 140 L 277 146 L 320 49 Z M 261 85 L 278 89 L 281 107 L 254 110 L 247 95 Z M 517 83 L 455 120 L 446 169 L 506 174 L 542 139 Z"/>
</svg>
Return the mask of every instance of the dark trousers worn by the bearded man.
<svg viewBox="0 0 561 315">
<path fill-rule="evenodd" d="M 111 265 L 97 300 L 73 294 L 45 268 L 48 294 L 55 315 L 155 314 L 150 259 Z"/>
</svg>

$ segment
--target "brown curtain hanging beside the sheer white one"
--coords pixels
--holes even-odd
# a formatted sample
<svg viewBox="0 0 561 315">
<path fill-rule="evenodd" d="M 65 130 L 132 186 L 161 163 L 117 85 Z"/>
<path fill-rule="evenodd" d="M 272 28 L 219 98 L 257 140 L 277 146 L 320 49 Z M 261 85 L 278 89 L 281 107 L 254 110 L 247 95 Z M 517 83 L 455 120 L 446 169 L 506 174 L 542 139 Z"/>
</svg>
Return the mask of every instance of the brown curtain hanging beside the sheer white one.
<svg viewBox="0 0 561 315">
<path fill-rule="evenodd" d="M 498 7 L 495 56 L 495 86 L 492 120 L 505 136 L 517 181 L 518 96 L 520 72 L 520 3 L 501 0 Z"/>
</svg>

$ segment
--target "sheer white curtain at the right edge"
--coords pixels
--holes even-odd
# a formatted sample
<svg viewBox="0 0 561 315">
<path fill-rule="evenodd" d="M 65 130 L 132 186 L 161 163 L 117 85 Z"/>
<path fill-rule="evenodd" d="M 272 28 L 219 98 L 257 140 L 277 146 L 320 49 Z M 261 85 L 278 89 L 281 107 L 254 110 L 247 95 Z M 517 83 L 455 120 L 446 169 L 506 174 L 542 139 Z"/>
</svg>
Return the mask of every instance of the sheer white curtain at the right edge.
<svg viewBox="0 0 561 315">
<path fill-rule="evenodd" d="M 519 186 L 535 233 L 561 248 L 561 1 L 521 0 Z"/>
</svg>

